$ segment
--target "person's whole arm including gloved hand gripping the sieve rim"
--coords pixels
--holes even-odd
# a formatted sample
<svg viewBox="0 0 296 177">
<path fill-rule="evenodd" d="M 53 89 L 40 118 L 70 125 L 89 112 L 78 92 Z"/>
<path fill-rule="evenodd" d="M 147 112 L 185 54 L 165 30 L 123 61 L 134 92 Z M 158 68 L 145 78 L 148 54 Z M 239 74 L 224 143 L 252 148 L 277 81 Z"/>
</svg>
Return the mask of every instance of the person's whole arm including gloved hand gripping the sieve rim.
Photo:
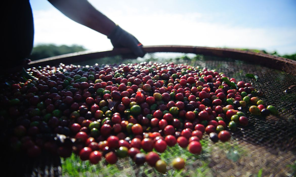
<svg viewBox="0 0 296 177">
<path fill-rule="evenodd" d="M 87 0 L 48 0 L 54 7 L 70 19 L 106 35 L 112 45 L 128 47 L 139 57 L 145 52 L 142 44 L 130 33 L 126 32 L 112 20 L 95 9 Z"/>
</svg>

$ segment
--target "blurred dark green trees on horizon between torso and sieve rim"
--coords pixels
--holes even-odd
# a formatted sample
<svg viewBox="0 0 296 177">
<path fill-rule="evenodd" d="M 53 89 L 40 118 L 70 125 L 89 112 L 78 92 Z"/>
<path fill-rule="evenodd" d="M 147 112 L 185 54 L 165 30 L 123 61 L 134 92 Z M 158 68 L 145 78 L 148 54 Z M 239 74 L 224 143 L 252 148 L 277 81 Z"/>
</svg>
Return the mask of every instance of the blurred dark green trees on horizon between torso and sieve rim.
<svg viewBox="0 0 296 177">
<path fill-rule="evenodd" d="M 80 52 L 86 50 L 83 46 L 78 45 L 72 45 L 72 46 L 66 46 L 61 45 L 57 46 L 54 44 L 40 44 L 33 48 L 32 54 L 30 55 L 29 59 L 32 61 L 48 58 L 48 57 L 54 57 L 58 55 L 63 54 L 69 54 L 73 52 Z"/>
</svg>

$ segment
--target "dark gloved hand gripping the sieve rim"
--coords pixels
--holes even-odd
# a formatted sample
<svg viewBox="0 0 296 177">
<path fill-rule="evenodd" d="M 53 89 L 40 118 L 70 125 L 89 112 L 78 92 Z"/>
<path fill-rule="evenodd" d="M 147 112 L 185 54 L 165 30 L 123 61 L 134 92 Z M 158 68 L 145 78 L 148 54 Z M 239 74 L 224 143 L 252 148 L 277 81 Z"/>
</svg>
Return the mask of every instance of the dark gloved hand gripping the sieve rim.
<svg viewBox="0 0 296 177">
<path fill-rule="evenodd" d="M 135 36 L 126 32 L 118 25 L 111 31 L 107 36 L 113 45 L 114 48 L 127 47 L 137 57 L 144 57 L 145 52 L 142 49 L 142 44 L 135 38 Z"/>
</svg>

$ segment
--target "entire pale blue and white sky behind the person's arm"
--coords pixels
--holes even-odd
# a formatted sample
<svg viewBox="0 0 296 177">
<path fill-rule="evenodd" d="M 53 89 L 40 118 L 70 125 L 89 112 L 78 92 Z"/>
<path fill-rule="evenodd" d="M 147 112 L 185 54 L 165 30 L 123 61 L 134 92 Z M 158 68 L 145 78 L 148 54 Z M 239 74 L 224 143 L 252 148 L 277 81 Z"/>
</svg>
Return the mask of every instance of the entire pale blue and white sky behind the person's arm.
<svg viewBox="0 0 296 177">
<path fill-rule="evenodd" d="M 190 45 L 296 53 L 296 1 L 89 0 L 144 46 Z M 34 46 L 78 44 L 112 49 L 101 33 L 63 15 L 47 0 L 30 0 Z"/>
</svg>

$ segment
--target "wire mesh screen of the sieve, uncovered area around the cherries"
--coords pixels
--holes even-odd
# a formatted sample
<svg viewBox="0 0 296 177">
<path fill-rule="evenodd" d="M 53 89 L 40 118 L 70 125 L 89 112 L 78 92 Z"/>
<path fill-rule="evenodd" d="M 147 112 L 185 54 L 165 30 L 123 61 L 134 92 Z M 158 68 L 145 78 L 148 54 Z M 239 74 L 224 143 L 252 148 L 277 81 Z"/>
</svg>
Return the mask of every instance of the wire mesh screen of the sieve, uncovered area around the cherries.
<svg viewBox="0 0 296 177">
<path fill-rule="evenodd" d="M 105 57 L 75 65 L 95 65 L 139 62 L 174 62 L 193 66 L 217 69 L 237 81 L 251 82 L 256 90 L 263 92 L 259 96 L 264 104 L 273 105 L 279 115 L 262 117 L 251 115 L 248 106 L 242 108 L 249 118 L 246 127 L 238 127 L 232 133 L 231 141 L 213 143 L 207 135 L 202 140 L 202 154 L 186 156 L 188 151 L 181 147 L 168 148 L 161 159 L 168 164 L 171 158 L 186 157 L 185 169 L 181 172 L 167 173 L 167 176 L 295 176 L 296 164 L 296 77 L 285 72 L 247 63 L 236 59 L 209 57 L 184 53 L 152 53 L 141 59 L 123 59 L 120 56 Z M 245 75 L 251 73 L 258 80 Z M 290 89 L 289 89 L 290 87 Z M 162 176 L 149 165 L 137 166 L 130 158 L 118 160 L 115 165 L 107 165 L 103 160 L 98 165 L 88 162 L 75 162 L 76 157 L 62 159 L 64 176 Z M 78 173 L 69 171 L 78 168 Z M 111 169 L 111 170 L 110 170 Z M 117 171 L 117 170 L 118 171 Z M 168 165 L 168 171 L 173 169 Z M 76 169 L 77 171 L 77 169 Z M 38 170 L 35 170 L 36 175 Z"/>
</svg>

